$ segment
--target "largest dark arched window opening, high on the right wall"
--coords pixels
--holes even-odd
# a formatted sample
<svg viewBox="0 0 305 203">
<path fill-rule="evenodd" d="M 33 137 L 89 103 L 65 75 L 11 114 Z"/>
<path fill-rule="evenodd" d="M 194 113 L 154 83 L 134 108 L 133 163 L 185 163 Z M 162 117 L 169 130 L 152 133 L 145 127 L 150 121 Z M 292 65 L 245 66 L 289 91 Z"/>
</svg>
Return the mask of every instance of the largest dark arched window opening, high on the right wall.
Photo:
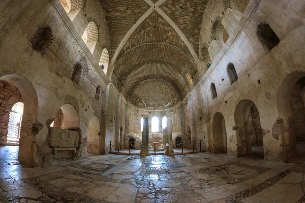
<svg viewBox="0 0 305 203">
<path fill-rule="evenodd" d="M 257 25 L 256 35 L 268 52 L 280 43 L 279 37 L 267 23 Z"/>
</svg>

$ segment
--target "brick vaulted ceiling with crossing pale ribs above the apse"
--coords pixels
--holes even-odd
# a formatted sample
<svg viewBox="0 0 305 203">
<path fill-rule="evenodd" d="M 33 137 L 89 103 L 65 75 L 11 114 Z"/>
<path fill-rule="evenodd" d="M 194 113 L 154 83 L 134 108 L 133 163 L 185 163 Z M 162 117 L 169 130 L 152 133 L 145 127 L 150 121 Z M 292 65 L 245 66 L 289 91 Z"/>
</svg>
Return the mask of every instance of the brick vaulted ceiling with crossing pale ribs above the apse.
<svg viewBox="0 0 305 203">
<path fill-rule="evenodd" d="M 107 75 L 132 104 L 177 104 L 200 79 L 199 36 L 208 0 L 100 0 L 110 35 Z"/>
</svg>

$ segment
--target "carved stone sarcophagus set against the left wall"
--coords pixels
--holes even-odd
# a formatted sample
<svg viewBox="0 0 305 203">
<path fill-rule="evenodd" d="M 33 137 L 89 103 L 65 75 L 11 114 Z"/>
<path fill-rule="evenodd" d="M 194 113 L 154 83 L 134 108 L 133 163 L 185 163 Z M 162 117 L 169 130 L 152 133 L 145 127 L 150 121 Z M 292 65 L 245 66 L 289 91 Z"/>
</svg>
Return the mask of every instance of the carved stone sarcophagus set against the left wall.
<svg viewBox="0 0 305 203">
<path fill-rule="evenodd" d="M 65 130 L 56 127 L 50 128 L 49 147 L 52 148 L 55 158 L 69 157 L 71 153 L 64 153 L 64 151 L 72 151 L 73 155 L 76 153 L 78 147 L 79 134 L 76 131 Z M 57 151 L 63 151 L 61 155 L 56 156 Z"/>
</svg>

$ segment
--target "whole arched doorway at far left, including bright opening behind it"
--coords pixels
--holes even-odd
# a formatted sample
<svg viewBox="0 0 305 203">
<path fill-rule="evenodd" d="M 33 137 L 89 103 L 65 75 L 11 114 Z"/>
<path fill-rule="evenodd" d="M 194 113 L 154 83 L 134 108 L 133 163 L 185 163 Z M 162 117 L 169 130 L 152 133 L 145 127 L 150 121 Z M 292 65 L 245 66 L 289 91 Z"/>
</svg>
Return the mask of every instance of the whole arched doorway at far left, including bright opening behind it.
<svg viewBox="0 0 305 203">
<path fill-rule="evenodd" d="M 0 83 L 2 84 L 0 93 L 6 92 L 4 94 L 5 97 L 2 99 L 5 101 L 5 103 L 2 103 L 4 108 L 0 110 L 2 115 L 0 118 L 2 122 L 1 128 L 3 129 L 0 132 L 0 145 L 7 145 L 8 131 L 10 128 L 9 136 L 16 137 L 17 134 L 17 137 L 19 137 L 18 155 L 16 151 L 16 157 L 18 157 L 19 162 L 27 166 L 37 166 L 39 164 L 39 159 L 37 158 L 37 153 L 35 152 L 33 145 L 35 145 L 34 136 L 40 129 L 33 131 L 34 128 L 32 127 L 40 124 L 36 117 L 38 112 L 38 97 L 36 90 L 31 82 L 18 75 L 2 76 L 0 77 Z M 13 133 L 14 127 L 9 127 L 10 113 L 12 109 L 14 110 L 13 106 L 18 102 L 23 103 L 23 114 L 20 118 L 21 122 L 19 122 L 19 125 L 21 126 L 15 127 L 15 132 Z M 17 109 L 21 108 L 21 104 L 17 105 L 19 107 L 15 106 L 15 110 L 19 113 L 21 112 L 21 109 L 19 109 L 20 111 Z M 18 124 L 16 119 L 17 117 L 15 117 L 15 119 L 12 118 L 11 124 Z M 23 123 L 24 121 L 26 121 L 26 123 Z"/>
</svg>

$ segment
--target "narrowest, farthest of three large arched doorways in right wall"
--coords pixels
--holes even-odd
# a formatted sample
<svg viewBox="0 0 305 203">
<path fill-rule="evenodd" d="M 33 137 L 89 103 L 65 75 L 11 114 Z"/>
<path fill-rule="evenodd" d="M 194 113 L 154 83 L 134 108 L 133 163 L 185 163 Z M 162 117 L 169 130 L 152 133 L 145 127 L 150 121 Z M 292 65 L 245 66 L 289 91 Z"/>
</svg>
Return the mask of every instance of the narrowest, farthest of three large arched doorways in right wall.
<svg viewBox="0 0 305 203">
<path fill-rule="evenodd" d="M 227 152 L 227 131 L 224 116 L 217 112 L 212 121 L 214 152 Z"/>
</svg>

